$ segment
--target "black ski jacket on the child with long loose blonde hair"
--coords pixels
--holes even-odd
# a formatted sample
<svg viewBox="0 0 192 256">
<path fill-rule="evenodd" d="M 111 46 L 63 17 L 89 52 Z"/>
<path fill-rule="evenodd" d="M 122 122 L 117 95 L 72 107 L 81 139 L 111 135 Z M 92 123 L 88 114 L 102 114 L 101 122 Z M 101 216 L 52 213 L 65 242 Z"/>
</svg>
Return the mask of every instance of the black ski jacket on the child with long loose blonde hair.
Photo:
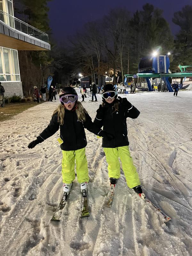
<svg viewBox="0 0 192 256">
<path fill-rule="evenodd" d="M 100 131 L 100 128 L 96 124 L 93 124 L 91 117 L 87 113 L 85 116 L 86 121 L 80 122 L 77 119 L 75 110 L 72 111 L 65 109 L 64 123 L 60 125 L 57 120 L 57 113 L 55 113 L 52 116 L 50 124 L 44 129 L 43 132 L 40 133 L 40 140 L 46 140 L 60 128 L 60 138 L 63 140 L 63 143 L 60 144 L 60 148 L 62 150 L 77 150 L 86 147 L 87 140 L 84 128 L 96 135 Z"/>
</svg>

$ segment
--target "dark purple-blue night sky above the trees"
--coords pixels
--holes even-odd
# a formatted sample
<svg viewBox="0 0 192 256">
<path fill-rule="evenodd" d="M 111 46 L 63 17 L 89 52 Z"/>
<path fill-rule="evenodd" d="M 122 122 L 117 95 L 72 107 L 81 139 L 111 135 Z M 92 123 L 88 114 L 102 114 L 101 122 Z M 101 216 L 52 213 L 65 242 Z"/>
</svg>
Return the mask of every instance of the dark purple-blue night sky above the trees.
<svg viewBox="0 0 192 256">
<path fill-rule="evenodd" d="M 163 9 L 164 18 L 169 22 L 172 33 L 176 34 L 179 27 L 172 23 L 173 13 L 185 5 L 192 5 L 192 0 L 52 0 L 48 6 L 53 38 L 62 42 L 81 30 L 86 22 L 102 18 L 115 7 L 125 7 L 133 13 L 141 10 L 145 3 Z"/>
</svg>

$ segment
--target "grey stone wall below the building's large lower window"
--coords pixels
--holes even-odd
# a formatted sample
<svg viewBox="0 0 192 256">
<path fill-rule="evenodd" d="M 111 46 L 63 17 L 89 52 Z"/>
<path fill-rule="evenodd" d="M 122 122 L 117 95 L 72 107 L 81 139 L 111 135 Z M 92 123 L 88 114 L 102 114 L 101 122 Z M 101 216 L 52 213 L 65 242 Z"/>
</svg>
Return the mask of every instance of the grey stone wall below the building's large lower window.
<svg viewBox="0 0 192 256">
<path fill-rule="evenodd" d="M 5 97 L 11 97 L 15 94 L 18 96 L 21 95 L 21 98 L 23 98 L 22 82 L 1 82 L 1 85 L 3 85 L 5 89 Z"/>
</svg>

